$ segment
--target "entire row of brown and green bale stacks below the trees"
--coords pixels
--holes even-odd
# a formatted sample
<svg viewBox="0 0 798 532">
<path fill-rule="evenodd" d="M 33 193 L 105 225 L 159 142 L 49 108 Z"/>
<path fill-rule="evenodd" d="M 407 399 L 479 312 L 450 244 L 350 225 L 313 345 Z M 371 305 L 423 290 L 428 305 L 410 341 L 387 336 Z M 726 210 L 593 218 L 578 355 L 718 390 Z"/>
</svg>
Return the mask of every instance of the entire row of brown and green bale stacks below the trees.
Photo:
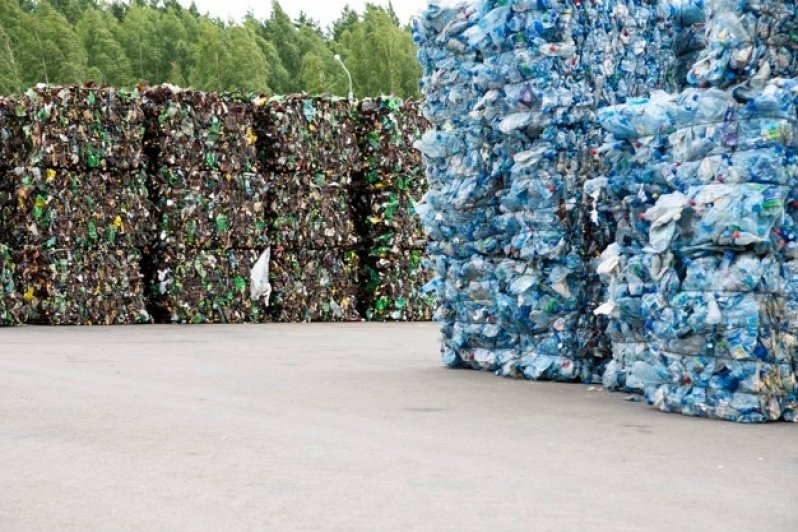
<svg viewBox="0 0 798 532">
<path fill-rule="evenodd" d="M 426 319 L 425 127 L 389 98 L 0 99 L 0 324 Z"/>
</svg>

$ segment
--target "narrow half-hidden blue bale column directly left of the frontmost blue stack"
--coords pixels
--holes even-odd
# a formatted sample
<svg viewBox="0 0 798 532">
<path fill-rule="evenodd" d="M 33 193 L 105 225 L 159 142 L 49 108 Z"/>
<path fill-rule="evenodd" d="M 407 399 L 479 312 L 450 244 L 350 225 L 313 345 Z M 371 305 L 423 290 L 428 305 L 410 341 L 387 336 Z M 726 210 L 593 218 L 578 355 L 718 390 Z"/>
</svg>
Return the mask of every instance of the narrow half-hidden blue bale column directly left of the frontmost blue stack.
<svg viewBox="0 0 798 532">
<path fill-rule="evenodd" d="M 599 113 L 611 134 L 600 153 L 610 167 L 606 185 L 614 205 L 615 242 L 602 253 L 598 266 L 608 293 L 596 312 L 609 318 L 607 335 L 613 359 L 603 380 L 611 390 L 642 392 L 644 388 L 631 374 L 634 364 L 649 356 L 643 297 L 657 292 L 662 268 L 670 264 L 668 254 L 645 253 L 650 225 L 645 213 L 660 196 L 673 190 L 673 183 L 662 173 L 671 160 L 668 127 L 672 124 L 668 121 L 675 120 L 671 115 L 677 107 L 685 114 L 696 113 L 698 103 L 707 103 L 696 102 L 694 95 L 684 93 L 672 99 L 662 93 Z"/>
</svg>

